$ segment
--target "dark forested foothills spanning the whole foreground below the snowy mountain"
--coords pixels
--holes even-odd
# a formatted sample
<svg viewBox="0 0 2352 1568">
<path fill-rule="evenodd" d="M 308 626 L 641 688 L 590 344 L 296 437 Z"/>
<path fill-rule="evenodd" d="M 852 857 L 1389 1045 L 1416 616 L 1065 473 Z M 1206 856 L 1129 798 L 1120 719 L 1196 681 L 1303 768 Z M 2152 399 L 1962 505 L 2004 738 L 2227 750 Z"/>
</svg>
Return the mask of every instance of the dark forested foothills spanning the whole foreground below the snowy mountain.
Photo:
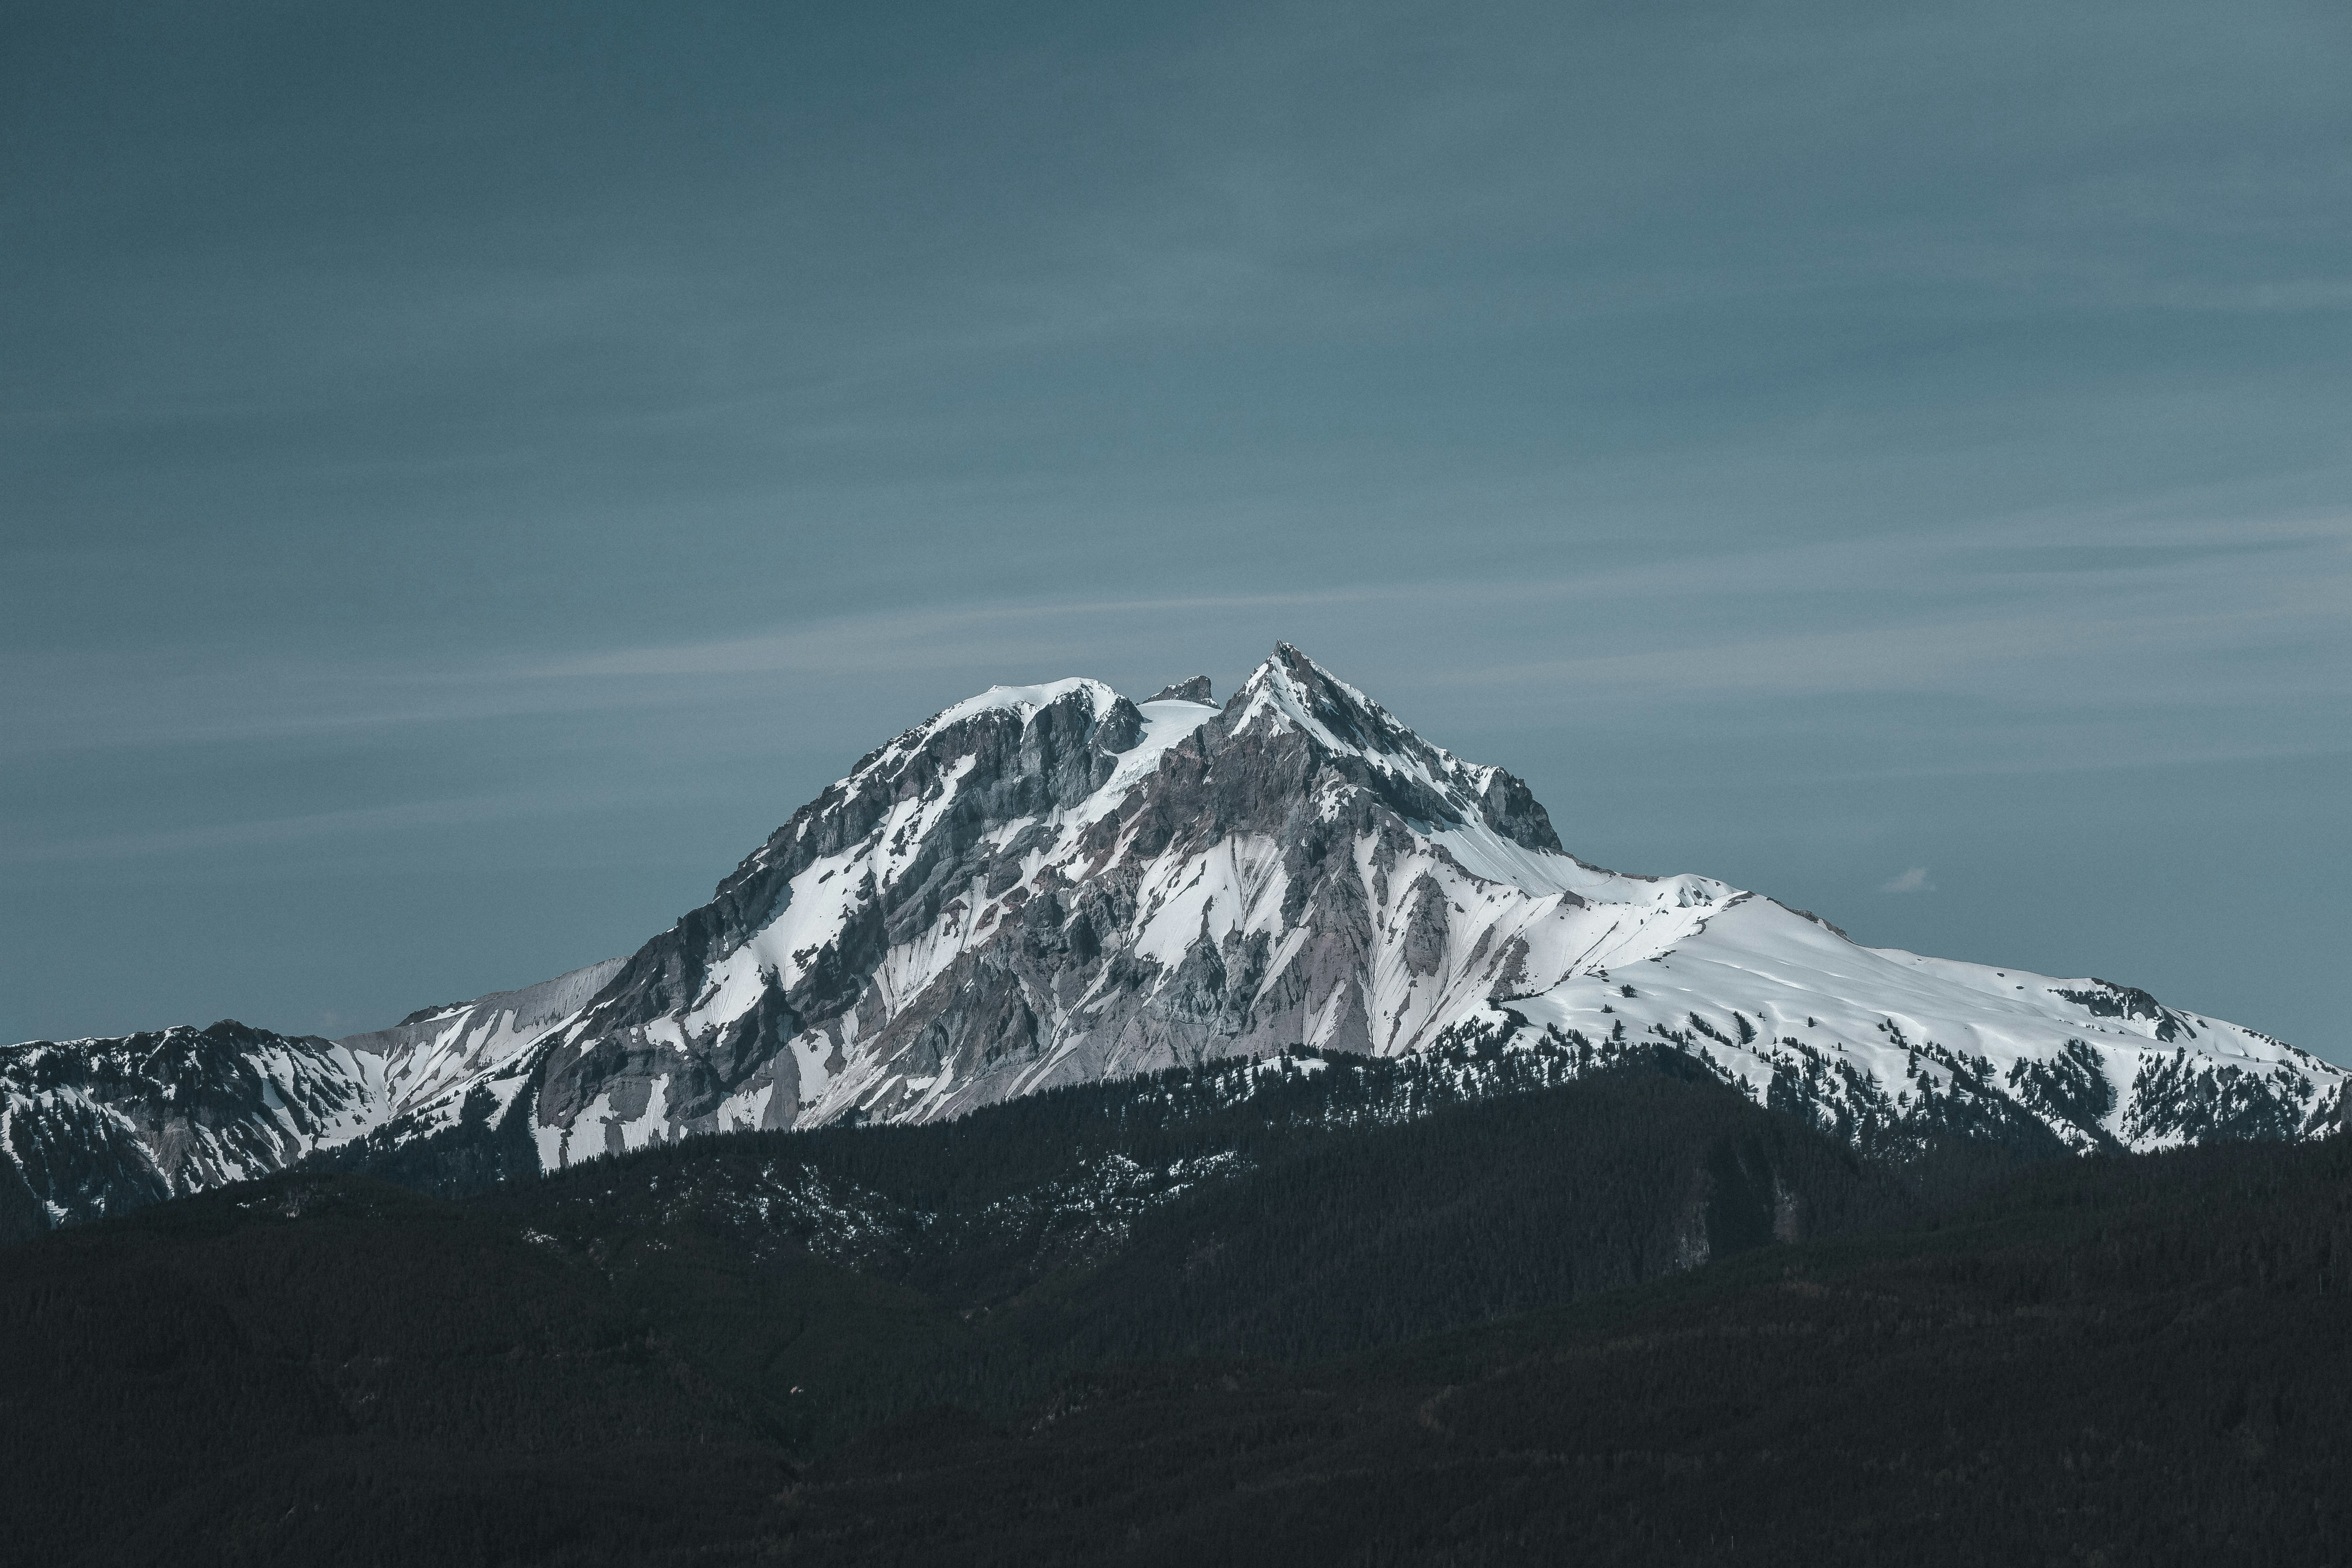
<svg viewBox="0 0 2352 1568">
<path fill-rule="evenodd" d="M 1882 1168 L 1686 1072 L 56 1232 L 0 1253 L 0 1559 L 2343 1561 L 2343 1138 Z"/>
</svg>

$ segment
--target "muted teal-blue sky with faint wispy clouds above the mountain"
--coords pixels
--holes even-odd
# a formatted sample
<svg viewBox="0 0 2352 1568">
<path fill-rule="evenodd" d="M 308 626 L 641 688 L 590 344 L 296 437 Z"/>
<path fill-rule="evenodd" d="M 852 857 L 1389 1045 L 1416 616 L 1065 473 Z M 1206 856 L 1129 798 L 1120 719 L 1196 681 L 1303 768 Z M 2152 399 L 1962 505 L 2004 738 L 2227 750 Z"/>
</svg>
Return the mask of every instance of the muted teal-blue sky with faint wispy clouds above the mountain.
<svg viewBox="0 0 2352 1568">
<path fill-rule="evenodd" d="M 626 952 L 993 682 L 2352 1060 L 2352 12 L 9 7 L 0 1037 Z"/>
</svg>

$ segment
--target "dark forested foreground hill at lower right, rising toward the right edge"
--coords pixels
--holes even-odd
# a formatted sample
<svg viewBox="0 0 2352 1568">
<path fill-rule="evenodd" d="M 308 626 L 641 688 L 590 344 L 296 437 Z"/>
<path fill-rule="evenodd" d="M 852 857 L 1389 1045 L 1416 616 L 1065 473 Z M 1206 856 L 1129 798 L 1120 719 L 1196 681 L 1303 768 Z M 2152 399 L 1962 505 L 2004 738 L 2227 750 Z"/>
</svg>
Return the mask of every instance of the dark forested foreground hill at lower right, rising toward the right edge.
<svg viewBox="0 0 2352 1568">
<path fill-rule="evenodd" d="M 2352 1561 L 2352 1152 L 2037 1173 L 1308 1371 L 1131 1368 L 818 1465 L 804 1561 Z"/>
</svg>

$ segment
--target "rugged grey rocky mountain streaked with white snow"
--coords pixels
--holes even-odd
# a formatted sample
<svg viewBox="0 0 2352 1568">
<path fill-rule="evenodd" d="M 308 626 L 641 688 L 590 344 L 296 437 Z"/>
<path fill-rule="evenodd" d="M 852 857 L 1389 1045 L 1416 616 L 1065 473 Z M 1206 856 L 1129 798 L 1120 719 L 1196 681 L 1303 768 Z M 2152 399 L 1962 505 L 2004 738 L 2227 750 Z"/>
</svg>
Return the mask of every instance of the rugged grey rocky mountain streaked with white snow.
<svg viewBox="0 0 2352 1568">
<path fill-rule="evenodd" d="M 1588 865 L 1522 780 L 1282 644 L 1223 708 L 1204 677 L 957 703 L 628 959 L 343 1041 L 12 1046 L 0 1150 L 61 1222 L 111 1185 L 186 1192 L 360 1135 L 496 1126 L 553 1168 L 1463 1039 L 1595 1065 L 1665 1044 L 1863 1145 L 2016 1117 L 2079 1150 L 2296 1138 L 2347 1105 L 2343 1070 L 2143 990 L 1860 947 L 1708 877 Z"/>
</svg>

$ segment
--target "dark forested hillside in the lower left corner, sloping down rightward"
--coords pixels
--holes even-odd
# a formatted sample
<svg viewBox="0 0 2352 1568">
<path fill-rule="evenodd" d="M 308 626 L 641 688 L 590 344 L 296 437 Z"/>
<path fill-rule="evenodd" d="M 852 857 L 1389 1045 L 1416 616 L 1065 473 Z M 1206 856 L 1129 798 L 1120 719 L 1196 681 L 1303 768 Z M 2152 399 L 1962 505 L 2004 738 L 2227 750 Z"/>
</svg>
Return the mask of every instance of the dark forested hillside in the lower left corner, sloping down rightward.
<svg viewBox="0 0 2352 1568">
<path fill-rule="evenodd" d="M 365 1180 L 0 1262 L 9 1563 L 666 1561 L 788 1465 L 590 1269 Z"/>
</svg>

